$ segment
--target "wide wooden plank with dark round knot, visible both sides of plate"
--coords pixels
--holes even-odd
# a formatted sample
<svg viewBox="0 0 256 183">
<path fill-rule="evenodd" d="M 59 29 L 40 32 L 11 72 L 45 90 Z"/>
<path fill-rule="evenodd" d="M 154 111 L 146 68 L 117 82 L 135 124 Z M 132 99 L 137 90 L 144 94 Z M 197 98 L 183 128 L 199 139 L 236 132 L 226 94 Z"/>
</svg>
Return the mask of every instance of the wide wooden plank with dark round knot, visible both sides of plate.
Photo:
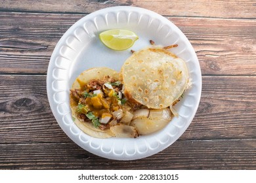
<svg viewBox="0 0 256 183">
<path fill-rule="evenodd" d="M 49 107 L 46 76 L 0 75 L 2 144 L 70 142 Z M 200 107 L 181 140 L 256 139 L 256 76 L 203 76 Z"/>
</svg>

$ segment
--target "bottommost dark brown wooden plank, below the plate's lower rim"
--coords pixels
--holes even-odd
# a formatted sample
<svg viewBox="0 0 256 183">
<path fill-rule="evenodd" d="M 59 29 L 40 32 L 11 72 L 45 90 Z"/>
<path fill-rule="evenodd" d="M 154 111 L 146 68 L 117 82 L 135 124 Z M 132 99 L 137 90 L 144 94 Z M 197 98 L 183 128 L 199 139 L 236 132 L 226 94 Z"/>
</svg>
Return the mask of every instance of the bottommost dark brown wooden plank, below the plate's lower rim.
<svg viewBox="0 0 256 183">
<path fill-rule="evenodd" d="M 177 141 L 133 161 L 100 158 L 73 142 L 0 144 L 0 154 L 0 169 L 256 169 L 255 139 Z"/>
</svg>

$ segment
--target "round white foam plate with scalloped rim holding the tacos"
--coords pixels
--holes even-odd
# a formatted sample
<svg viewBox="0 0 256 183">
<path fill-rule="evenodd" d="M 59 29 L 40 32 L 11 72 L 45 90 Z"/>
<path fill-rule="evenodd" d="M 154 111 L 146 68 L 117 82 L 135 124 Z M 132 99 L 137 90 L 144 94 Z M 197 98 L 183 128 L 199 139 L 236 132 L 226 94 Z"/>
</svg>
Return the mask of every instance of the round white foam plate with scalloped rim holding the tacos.
<svg viewBox="0 0 256 183">
<path fill-rule="evenodd" d="M 161 131 L 133 139 L 97 139 L 83 133 L 73 122 L 69 93 L 75 78 L 91 67 L 119 71 L 130 50 L 106 48 L 98 34 L 107 29 L 129 29 L 139 36 L 131 49 L 156 44 L 178 44 L 171 52 L 184 59 L 192 78 L 192 88 L 175 105 L 179 118 L 173 118 Z M 172 22 L 156 12 L 137 7 L 111 7 L 98 10 L 77 21 L 58 41 L 47 71 L 47 95 L 54 117 L 63 131 L 81 148 L 108 159 L 131 160 L 152 156 L 181 137 L 192 122 L 200 102 L 202 76 L 192 45 Z"/>
</svg>

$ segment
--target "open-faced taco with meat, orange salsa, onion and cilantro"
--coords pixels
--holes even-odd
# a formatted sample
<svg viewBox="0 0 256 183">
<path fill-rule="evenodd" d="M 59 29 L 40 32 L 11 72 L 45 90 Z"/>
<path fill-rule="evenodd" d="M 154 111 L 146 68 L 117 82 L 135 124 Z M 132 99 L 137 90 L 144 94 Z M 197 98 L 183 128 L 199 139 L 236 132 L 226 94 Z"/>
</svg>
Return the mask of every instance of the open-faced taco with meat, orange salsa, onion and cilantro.
<svg viewBox="0 0 256 183">
<path fill-rule="evenodd" d="M 92 137 L 137 137 L 135 127 L 117 120 L 131 121 L 121 90 L 119 74 L 106 67 L 83 71 L 70 90 L 70 107 L 75 124 Z M 130 118 L 130 119 L 129 119 Z"/>
</svg>

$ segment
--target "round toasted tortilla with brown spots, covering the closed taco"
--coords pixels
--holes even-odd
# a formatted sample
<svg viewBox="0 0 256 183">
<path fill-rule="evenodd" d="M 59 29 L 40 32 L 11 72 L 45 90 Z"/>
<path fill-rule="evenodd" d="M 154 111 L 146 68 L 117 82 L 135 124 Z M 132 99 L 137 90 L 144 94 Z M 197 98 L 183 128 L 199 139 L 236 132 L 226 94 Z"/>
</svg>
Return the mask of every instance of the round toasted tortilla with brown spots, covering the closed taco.
<svg viewBox="0 0 256 183">
<path fill-rule="evenodd" d="M 148 108 L 165 108 L 184 92 L 188 82 L 186 63 L 160 48 L 134 52 L 121 68 L 125 95 Z"/>
</svg>

